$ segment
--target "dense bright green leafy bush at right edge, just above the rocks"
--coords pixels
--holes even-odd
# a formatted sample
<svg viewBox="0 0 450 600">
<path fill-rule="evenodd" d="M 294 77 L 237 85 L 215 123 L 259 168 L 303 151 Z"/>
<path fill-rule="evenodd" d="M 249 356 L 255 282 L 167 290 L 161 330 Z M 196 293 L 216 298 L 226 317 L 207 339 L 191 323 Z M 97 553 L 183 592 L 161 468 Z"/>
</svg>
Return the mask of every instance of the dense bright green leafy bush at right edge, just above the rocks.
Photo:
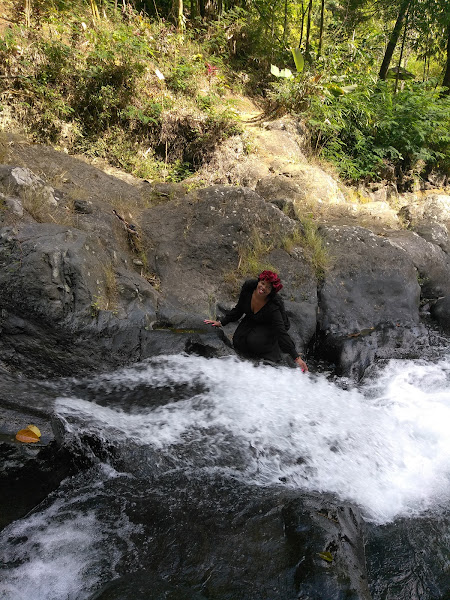
<svg viewBox="0 0 450 600">
<path fill-rule="evenodd" d="M 315 97 L 308 124 L 315 147 L 347 180 L 377 178 L 384 162 L 449 173 L 450 98 L 410 84 L 395 94 L 379 82 L 339 97 Z"/>
</svg>

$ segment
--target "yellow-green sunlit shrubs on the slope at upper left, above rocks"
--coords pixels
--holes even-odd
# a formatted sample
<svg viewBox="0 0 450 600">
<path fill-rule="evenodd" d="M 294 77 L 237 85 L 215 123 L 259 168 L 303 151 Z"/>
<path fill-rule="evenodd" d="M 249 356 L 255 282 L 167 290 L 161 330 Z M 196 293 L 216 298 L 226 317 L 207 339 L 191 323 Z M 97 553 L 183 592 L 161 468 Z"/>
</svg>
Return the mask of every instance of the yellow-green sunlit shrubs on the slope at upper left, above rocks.
<svg viewBox="0 0 450 600">
<path fill-rule="evenodd" d="M 110 12 L 92 27 L 88 10 L 82 4 L 43 8 L 38 33 L 16 28 L 0 40 L 0 60 L 12 74 L 0 86 L 13 86 L 17 119 L 36 141 L 102 157 L 140 177 L 180 181 L 191 175 L 215 144 L 237 131 L 232 111 L 219 110 L 222 60 L 198 53 L 197 42 L 166 23 L 132 12 L 122 22 Z M 170 115 L 175 105 L 180 114 L 195 114 L 199 127 L 184 127 L 176 113 Z"/>
</svg>

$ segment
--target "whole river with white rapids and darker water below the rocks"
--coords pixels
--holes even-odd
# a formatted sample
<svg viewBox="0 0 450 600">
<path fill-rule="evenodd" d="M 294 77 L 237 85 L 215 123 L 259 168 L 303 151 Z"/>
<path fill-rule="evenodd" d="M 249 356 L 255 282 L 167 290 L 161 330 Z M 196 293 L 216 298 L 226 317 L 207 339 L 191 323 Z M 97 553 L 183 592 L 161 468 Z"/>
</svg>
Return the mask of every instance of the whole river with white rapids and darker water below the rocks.
<svg viewBox="0 0 450 600">
<path fill-rule="evenodd" d="M 180 569 L 183 585 L 194 581 L 199 560 L 202 581 L 211 577 L 202 521 L 212 519 L 211 499 L 217 512 L 232 513 L 230 523 L 245 513 L 233 489 L 256 490 L 255 497 L 267 490 L 329 494 L 358 506 L 372 531 L 447 522 L 449 356 L 390 361 L 360 385 L 196 356 L 158 357 L 52 385 L 64 443 L 88 466 L 0 534 L 4 600 L 88 600 L 104 583 L 143 570 L 161 576 L 160 595 L 148 598 L 184 598 L 164 596 L 164 586 Z M 221 527 L 211 521 L 217 547 Z M 430 552 L 447 556 L 448 577 L 449 536 L 442 534 Z M 382 579 L 373 571 L 374 598 L 416 597 L 389 595 Z M 439 585 L 422 598 L 443 598 L 446 583 Z M 214 589 L 198 597 L 283 598 Z M 447 591 L 448 598 L 450 581 Z"/>
</svg>

